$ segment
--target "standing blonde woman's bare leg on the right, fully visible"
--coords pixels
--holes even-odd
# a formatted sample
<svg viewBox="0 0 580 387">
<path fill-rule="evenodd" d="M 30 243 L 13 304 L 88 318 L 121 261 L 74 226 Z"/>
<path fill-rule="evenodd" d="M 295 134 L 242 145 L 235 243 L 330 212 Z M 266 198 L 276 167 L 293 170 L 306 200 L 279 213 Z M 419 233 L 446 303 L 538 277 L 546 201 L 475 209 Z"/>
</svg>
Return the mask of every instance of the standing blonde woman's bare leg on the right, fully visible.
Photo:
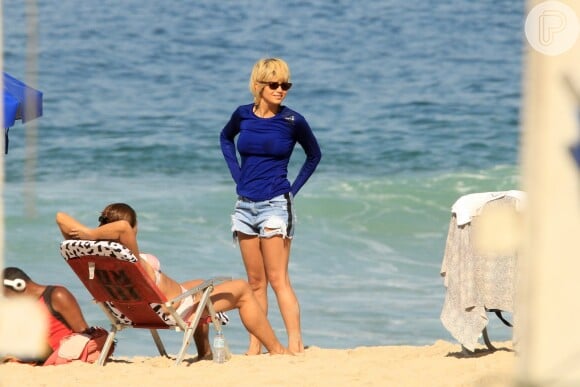
<svg viewBox="0 0 580 387">
<path fill-rule="evenodd" d="M 268 282 L 276 293 L 278 307 L 288 333 L 288 349 L 293 353 L 304 352 L 300 327 L 300 305 L 288 274 L 291 239 L 281 236 L 263 238 L 262 254 Z"/>
</svg>

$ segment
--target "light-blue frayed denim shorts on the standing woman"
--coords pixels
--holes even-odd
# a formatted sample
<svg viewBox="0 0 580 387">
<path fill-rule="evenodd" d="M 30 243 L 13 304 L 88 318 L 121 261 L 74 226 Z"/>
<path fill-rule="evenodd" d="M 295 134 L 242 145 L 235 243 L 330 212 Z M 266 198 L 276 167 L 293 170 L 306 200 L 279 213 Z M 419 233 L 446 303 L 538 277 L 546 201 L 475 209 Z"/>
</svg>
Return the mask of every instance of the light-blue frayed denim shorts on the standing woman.
<svg viewBox="0 0 580 387">
<path fill-rule="evenodd" d="M 294 199 L 291 193 L 273 197 L 270 200 L 254 202 L 238 197 L 232 214 L 232 232 L 270 238 L 282 235 L 291 239 L 294 236 Z"/>
</svg>

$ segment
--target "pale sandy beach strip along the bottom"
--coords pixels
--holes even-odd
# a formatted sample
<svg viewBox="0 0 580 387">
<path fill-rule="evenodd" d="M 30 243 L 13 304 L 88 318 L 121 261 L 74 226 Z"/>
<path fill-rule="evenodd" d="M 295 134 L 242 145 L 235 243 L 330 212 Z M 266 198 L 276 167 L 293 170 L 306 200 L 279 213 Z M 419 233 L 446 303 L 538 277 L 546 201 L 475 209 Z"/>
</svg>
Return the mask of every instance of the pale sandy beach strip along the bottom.
<svg viewBox="0 0 580 387">
<path fill-rule="evenodd" d="M 105 367 L 72 363 L 0 365 L 0 386 L 506 386 L 516 355 L 511 342 L 465 357 L 459 344 L 308 348 L 298 356 L 234 355 L 225 364 L 188 357 L 113 357 Z"/>
</svg>

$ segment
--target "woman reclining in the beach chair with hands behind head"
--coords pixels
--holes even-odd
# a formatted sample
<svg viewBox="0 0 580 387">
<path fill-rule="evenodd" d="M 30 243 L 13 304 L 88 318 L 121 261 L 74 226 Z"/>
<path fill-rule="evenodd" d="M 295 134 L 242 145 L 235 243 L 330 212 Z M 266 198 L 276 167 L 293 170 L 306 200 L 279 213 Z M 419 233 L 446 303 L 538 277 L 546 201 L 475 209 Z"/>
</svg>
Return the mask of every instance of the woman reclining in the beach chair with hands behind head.
<svg viewBox="0 0 580 387">
<path fill-rule="evenodd" d="M 203 280 L 191 280 L 178 283 L 161 271 L 159 260 L 155 256 L 140 252 L 137 244 L 137 213 L 126 203 L 113 203 L 105 207 L 99 217 L 99 226 L 96 228 L 87 227 L 64 212 L 57 213 L 56 222 L 65 239 L 109 240 L 127 247 L 135 257 L 139 257 L 139 263 L 143 269 L 167 298 L 174 298 L 203 282 Z M 290 354 L 276 338 L 266 314 L 246 281 L 232 280 L 218 284 L 210 298 L 216 312 L 238 309 L 246 329 L 259 337 L 270 354 Z M 181 304 L 176 305 L 176 309 L 186 320 L 193 315 L 196 307 L 197 302 L 193 297 L 186 298 L 181 301 Z M 207 325 L 201 326 L 194 333 L 198 359 L 211 357 L 208 330 Z"/>
</svg>

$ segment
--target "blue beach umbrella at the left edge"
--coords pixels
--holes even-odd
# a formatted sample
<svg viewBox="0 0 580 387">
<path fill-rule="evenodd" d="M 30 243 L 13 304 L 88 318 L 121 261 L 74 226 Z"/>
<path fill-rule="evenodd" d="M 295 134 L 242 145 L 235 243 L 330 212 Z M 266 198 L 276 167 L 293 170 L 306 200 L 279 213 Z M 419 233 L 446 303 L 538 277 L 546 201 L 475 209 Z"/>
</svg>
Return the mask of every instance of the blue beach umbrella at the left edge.
<svg viewBox="0 0 580 387">
<path fill-rule="evenodd" d="M 33 89 L 10 74 L 4 75 L 5 153 L 8 153 L 8 130 L 17 120 L 26 123 L 42 116 L 42 92 Z"/>
</svg>

